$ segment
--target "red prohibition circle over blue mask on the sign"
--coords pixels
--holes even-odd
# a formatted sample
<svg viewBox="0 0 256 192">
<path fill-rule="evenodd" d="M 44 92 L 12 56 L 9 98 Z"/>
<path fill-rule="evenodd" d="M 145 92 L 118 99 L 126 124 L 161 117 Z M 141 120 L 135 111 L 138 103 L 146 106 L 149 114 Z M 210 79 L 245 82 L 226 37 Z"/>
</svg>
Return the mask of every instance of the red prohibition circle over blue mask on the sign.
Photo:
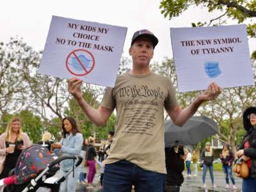
<svg viewBox="0 0 256 192">
<path fill-rule="evenodd" d="M 95 59 L 91 52 L 85 49 L 76 49 L 70 52 L 66 59 L 66 67 L 70 74 L 86 76 L 92 72 Z"/>
</svg>

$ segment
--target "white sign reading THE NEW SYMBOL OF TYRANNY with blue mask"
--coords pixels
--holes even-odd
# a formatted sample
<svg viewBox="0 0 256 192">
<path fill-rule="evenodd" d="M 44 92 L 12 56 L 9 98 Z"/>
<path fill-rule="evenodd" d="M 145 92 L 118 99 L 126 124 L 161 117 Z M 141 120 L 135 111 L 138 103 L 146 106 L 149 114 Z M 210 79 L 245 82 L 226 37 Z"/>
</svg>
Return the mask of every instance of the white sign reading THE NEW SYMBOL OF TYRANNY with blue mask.
<svg viewBox="0 0 256 192">
<path fill-rule="evenodd" d="M 170 28 L 179 92 L 252 85 L 245 25 Z"/>
</svg>

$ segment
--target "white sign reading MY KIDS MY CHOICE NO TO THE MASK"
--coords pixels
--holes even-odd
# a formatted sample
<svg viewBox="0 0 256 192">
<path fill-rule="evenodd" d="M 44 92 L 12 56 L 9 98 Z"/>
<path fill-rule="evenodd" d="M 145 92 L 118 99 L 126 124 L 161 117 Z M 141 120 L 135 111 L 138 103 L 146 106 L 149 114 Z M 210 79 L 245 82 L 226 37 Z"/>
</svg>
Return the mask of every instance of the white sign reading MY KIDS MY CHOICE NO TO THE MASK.
<svg viewBox="0 0 256 192">
<path fill-rule="evenodd" d="M 52 16 L 40 74 L 113 87 L 127 28 Z"/>
</svg>

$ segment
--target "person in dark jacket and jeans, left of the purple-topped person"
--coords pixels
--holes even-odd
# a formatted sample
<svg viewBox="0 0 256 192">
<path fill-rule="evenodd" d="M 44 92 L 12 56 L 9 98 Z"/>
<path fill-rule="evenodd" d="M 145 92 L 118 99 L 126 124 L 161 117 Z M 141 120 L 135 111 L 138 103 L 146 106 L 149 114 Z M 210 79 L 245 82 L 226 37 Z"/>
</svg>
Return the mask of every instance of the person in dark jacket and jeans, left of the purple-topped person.
<svg viewBox="0 0 256 192">
<path fill-rule="evenodd" d="M 202 186 L 202 188 L 206 188 L 205 175 L 207 172 L 207 168 L 209 168 L 211 182 L 212 182 L 212 188 L 216 188 L 216 185 L 214 184 L 213 164 L 212 164 L 214 161 L 214 157 L 215 157 L 215 154 L 214 154 L 214 151 L 212 150 L 211 143 L 210 142 L 205 143 L 205 149 L 202 150 L 202 153 L 201 153 L 201 159 L 203 161 L 203 175 L 202 175 L 203 186 Z"/>
</svg>

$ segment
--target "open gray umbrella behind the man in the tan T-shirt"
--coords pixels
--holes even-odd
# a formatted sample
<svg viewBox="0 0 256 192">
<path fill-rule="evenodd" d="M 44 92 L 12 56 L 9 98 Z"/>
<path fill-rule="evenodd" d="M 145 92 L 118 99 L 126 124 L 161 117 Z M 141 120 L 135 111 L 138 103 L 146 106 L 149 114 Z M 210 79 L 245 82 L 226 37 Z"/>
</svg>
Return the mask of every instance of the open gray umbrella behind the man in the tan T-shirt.
<svg viewBox="0 0 256 192">
<path fill-rule="evenodd" d="M 206 116 L 192 116 L 182 127 L 174 125 L 172 120 L 164 122 L 164 143 L 170 147 L 178 142 L 193 145 L 218 133 L 217 124 Z"/>
</svg>

